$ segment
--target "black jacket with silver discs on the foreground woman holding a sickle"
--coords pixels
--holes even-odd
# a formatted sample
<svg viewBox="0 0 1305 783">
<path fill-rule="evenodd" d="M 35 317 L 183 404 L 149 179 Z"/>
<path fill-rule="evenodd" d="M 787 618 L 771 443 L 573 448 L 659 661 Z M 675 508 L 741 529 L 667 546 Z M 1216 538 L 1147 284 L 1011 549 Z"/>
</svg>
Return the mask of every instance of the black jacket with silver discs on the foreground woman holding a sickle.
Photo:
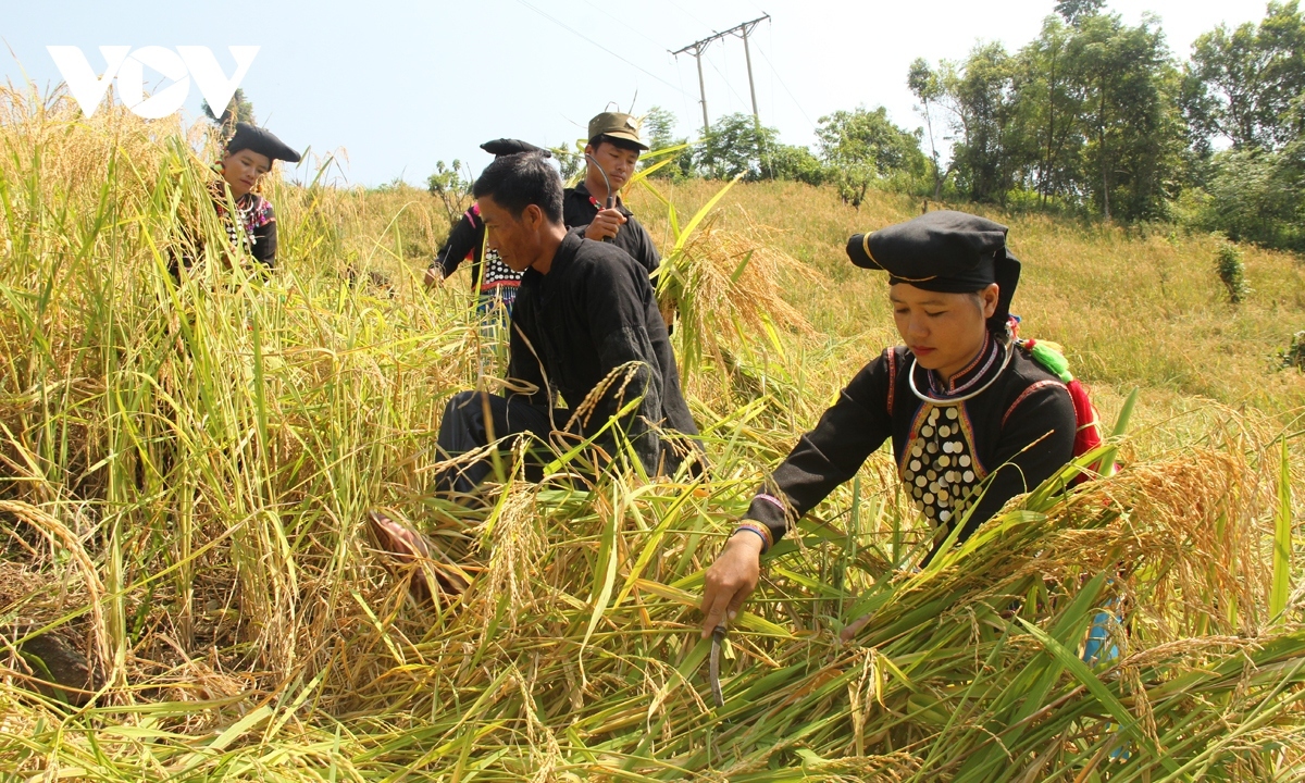
<svg viewBox="0 0 1305 783">
<path fill-rule="evenodd" d="M 911 389 L 912 369 L 916 389 L 928 397 L 979 393 L 950 405 L 924 402 Z M 964 540 L 1007 500 L 1069 462 L 1075 429 L 1065 384 L 1021 347 L 1006 348 L 989 335 L 979 358 L 944 384 L 934 372 L 915 368 L 911 351 L 898 346 L 852 378 L 771 474 L 745 517 L 766 525 L 779 540 L 788 519 L 814 508 L 891 438 L 903 489 L 946 530 L 974 505 L 979 484 L 996 472 L 958 535 Z M 775 489 L 778 497 L 767 496 Z M 788 519 L 776 500 L 790 506 Z"/>
</svg>

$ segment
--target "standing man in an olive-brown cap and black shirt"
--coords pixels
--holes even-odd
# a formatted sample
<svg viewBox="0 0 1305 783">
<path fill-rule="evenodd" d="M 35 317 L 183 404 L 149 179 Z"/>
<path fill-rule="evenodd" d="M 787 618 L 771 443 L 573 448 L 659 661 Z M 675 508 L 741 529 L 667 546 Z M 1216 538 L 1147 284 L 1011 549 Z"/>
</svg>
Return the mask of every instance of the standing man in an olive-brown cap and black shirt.
<svg viewBox="0 0 1305 783">
<path fill-rule="evenodd" d="M 662 256 L 647 228 L 620 197 L 621 188 L 634 176 L 639 153 L 647 149 L 639 138 L 639 124 L 630 115 L 604 111 L 590 120 L 585 180 L 565 191 L 562 221 L 568 228 L 583 227 L 586 239 L 611 241 L 651 274 Z"/>
</svg>

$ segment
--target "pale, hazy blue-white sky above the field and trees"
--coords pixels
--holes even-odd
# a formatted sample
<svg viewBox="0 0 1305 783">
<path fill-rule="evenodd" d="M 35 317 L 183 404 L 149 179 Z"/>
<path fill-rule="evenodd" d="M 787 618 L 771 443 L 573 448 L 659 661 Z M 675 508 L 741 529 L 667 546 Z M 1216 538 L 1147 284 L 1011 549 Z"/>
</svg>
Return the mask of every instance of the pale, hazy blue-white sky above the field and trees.
<svg viewBox="0 0 1305 783">
<path fill-rule="evenodd" d="M 500 136 L 556 145 L 585 136 L 609 104 L 636 114 L 672 110 L 679 132 L 701 125 L 693 59 L 668 54 L 769 12 L 750 39 L 762 123 L 788 144 L 810 144 L 820 116 L 886 106 L 921 124 L 906 89 L 917 56 L 959 59 L 979 40 L 1018 48 L 1052 13 L 1052 0 L 471 0 L 459 3 L 127 3 L 0 0 L 0 74 L 26 74 L 42 91 L 59 81 L 46 46 L 80 46 L 97 72 L 103 44 L 207 46 L 230 72 L 226 47 L 262 47 L 241 82 L 261 124 L 291 146 L 339 153 L 335 181 L 423 183 L 436 161 L 479 171 L 480 142 Z M 1156 13 L 1171 47 L 1220 22 L 1258 21 L 1262 3 L 1114 0 L 1135 23 Z M 219 10 L 219 9 L 226 10 Z M 613 56 L 616 52 L 619 56 Z M 713 120 L 750 111 L 743 43 L 703 56 Z M 162 86 L 162 85 L 161 85 Z M 192 86 L 183 110 L 200 114 Z"/>
</svg>

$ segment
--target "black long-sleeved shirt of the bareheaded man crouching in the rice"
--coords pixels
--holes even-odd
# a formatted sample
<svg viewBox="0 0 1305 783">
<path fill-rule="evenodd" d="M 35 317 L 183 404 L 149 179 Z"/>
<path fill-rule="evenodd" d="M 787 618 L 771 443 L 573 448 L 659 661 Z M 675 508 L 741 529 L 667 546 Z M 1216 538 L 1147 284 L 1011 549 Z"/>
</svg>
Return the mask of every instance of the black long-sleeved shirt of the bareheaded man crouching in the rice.
<svg viewBox="0 0 1305 783">
<path fill-rule="evenodd" d="M 551 406 L 560 393 L 576 410 L 611 371 L 630 364 L 633 378 L 622 382 L 619 376 L 579 429 L 595 432 L 642 394 L 622 419 L 639 462 L 649 475 L 679 466 L 686 445 L 667 448 L 662 431 L 697 436 L 698 428 L 680 392 L 680 371 L 652 284 L 629 254 L 568 232 L 548 274 L 527 269 L 522 275 L 512 325 L 508 377 L 538 388 L 532 405 Z M 613 446 L 604 448 L 615 453 Z"/>
</svg>

